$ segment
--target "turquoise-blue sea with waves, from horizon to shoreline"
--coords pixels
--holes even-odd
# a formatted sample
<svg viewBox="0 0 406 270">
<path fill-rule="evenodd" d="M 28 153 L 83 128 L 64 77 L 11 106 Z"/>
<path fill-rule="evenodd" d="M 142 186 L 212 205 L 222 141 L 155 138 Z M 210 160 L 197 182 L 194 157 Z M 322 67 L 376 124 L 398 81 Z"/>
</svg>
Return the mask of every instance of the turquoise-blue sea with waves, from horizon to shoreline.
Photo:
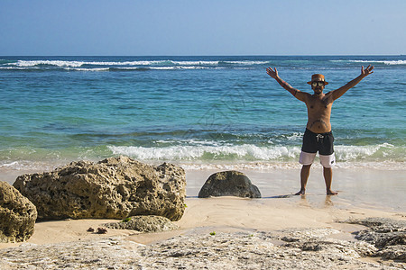
<svg viewBox="0 0 406 270">
<path fill-rule="evenodd" d="M 128 155 L 147 162 L 297 162 L 307 115 L 265 72 L 309 93 L 334 90 L 337 161 L 406 161 L 406 56 L 0 57 L 0 166 Z"/>
</svg>

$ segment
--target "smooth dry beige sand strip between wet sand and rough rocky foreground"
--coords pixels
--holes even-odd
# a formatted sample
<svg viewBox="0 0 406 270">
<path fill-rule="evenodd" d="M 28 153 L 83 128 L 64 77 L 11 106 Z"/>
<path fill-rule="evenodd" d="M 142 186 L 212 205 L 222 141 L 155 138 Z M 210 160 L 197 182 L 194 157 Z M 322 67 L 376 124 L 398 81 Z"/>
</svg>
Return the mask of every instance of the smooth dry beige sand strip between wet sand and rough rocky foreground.
<svg viewBox="0 0 406 270">
<path fill-rule="evenodd" d="M 36 245 L 68 241 L 125 236 L 141 244 L 150 244 L 180 234 L 211 231 L 234 232 L 255 230 L 281 230 L 291 228 L 338 229 L 343 238 L 352 238 L 350 232 L 359 226 L 340 223 L 348 219 L 366 217 L 406 220 L 406 212 L 382 211 L 376 209 L 349 207 L 338 208 L 334 198 L 325 196 L 316 205 L 305 196 L 289 198 L 243 199 L 237 197 L 216 197 L 208 199 L 187 198 L 186 211 L 177 224 L 180 229 L 159 233 L 137 233 L 127 229 L 108 229 L 106 234 L 89 233 L 87 229 L 97 229 L 102 224 L 117 220 L 52 220 L 35 224 L 35 232 L 27 243 Z M 348 234 L 348 235 L 346 235 Z M 18 247 L 22 243 L 0 243 L 0 248 Z"/>
</svg>

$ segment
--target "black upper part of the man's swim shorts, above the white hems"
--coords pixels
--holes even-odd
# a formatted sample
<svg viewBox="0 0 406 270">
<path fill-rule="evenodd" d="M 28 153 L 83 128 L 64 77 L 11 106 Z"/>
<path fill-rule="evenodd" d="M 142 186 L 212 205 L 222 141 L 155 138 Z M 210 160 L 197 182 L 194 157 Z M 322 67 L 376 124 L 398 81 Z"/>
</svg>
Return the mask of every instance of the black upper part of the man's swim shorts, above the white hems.
<svg viewBox="0 0 406 270">
<path fill-rule="evenodd" d="M 334 153 L 333 148 L 333 132 L 314 133 L 306 129 L 303 135 L 303 145 L 301 150 L 307 153 L 317 153 L 319 155 L 328 156 Z"/>
</svg>

